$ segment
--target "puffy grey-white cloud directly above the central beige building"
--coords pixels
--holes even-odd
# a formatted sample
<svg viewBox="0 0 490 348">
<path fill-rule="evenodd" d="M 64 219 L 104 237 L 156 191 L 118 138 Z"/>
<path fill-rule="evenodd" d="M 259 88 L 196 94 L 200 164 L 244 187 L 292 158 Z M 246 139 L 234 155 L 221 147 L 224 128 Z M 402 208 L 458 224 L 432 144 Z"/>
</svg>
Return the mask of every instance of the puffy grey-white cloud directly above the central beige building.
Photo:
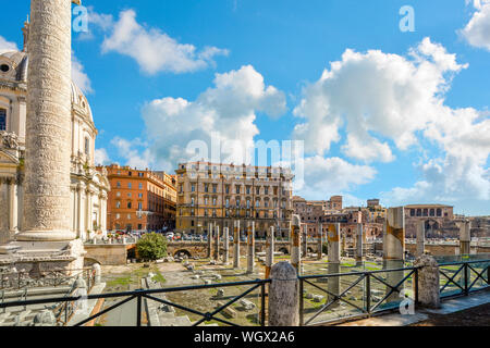
<svg viewBox="0 0 490 348">
<path fill-rule="evenodd" d="M 255 124 L 257 112 L 274 117 L 285 112 L 284 94 L 266 86 L 262 75 L 252 65 L 216 74 L 213 84 L 194 101 L 162 98 L 144 107 L 143 119 L 151 140 L 151 153 L 166 170 L 173 170 L 177 162 L 193 158 L 194 148 L 187 146 L 196 140 L 207 146 L 203 158 L 247 162 L 247 151 L 259 134 Z M 210 153 L 211 138 L 221 142 L 215 156 Z"/>
</svg>

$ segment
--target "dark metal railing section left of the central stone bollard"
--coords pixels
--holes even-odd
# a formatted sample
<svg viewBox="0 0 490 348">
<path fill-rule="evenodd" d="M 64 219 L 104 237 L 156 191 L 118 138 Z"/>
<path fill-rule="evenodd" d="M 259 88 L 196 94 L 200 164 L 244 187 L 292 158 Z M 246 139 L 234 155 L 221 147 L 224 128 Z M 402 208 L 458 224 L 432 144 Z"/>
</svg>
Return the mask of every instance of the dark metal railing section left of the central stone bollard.
<svg viewBox="0 0 490 348">
<path fill-rule="evenodd" d="M 83 326 L 86 323 L 93 322 L 95 321 L 97 318 L 125 304 L 128 301 L 132 301 L 134 299 L 136 299 L 136 326 L 142 326 L 142 312 L 144 310 L 144 306 L 143 304 L 143 299 L 148 299 L 148 300 L 152 300 L 152 301 L 157 301 L 160 302 L 162 304 L 167 304 L 170 307 L 173 307 L 175 309 L 180 309 L 182 311 L 185 312 L 189 312 L 193 314 L 196 314 L 198 316 L 201 316 L 200 320 L 196 321 L 195 323 L 193 323 L 192 326 L 197 326 L 204 322 L 209 322 L 209 321 L 217 321 L 226 325 L 231 325 L 231 326 L 238 326 L 235 323 L 232 323 L 228 320 L 218 318 L 217 315 L 222 312 L 223 310 L 225 310 L 226 308 L 229 308 L 230 306 L 232 306 L 233 303 L 235 303 L 236 301 L 238 301 L 240 299 L 244 298 L 245 296 L 247 296 L 248 294 L 250 294 L 252 291 L 260 288 L 260 316 L 259 316 L 259 324 L 260 326 L 265 326 L 266 325 L 266 297 L 267 297 L 267 293 L 266 293 L 266 284 L 270 283 L 270 279 L 256 279 L 256 281 L 246 281 L 246 282 L 235 282 L 235 283 L 223 283 L 223 284 L 211 284 L 211 285 L 194 285 L 194 286 L 184 286 L 184 287 L 173 287 L 173 288 L 162 288 L 162 289 L 139 289 L 139 290 L 134 290 L 134 291 L 125 291 L 125 293 L 111 293 L 111 294 L 101 294 L 101 295 L 89 295 L 86 297 L 83 297 L 84 300 L 91 300 L 91 299 L 110 299 L 110 298 L 121 298 L 123 297 L 124 299 L 119 301 L 115 304 L 112 304 L 106 309 L 103 309 L 102 311 L 87 318 L 84 319 L 83 321 L 78 322 L 78 323 L 74 323 L 73 326 Z M 229 300 L 228 302 L 225 302 L 224 304 L 220 306 L 219 308 L 217 308 L 216 310 L 211 311 L 211 312 L 206 312 L 203 313 L 200 311 L 197 311 L 195 309 L 188 308 L 186 306 L 182 306 L 179 303 L 173 303 L 171 301 L 168 301 L 166 299 L 161 299 L 161 298 L 157 298 L 154 295 L 159 295 L 159 294 L 169 294 L 169 293 L 177 293 L 177 291 L 187 291 L 187 290 L 199 290 L 199 289 L 211 289 L 211 288 L 225 288 L 225 287 L 233 287 L 233 286 L 247 286 L 250 285 L 252 287 L 248 288 L 246 291 L 233 297 L 231 300 Z M 0 309 L 2 308 L 11 308 L 11 307 L 16 307 L 16 306 L 34 306 L 34 304 L 47 304 L 47 303 L 57 303 L 57 302 L 61 302 L 61 312 L 60 313 L 64 313 L 63 315 L 63 320 L 60 320 L 62 325 L 66 325 L 66 323 L 70 321 L 70 319 L 73 316 L 75 310 L 76 310 L 76 306 L 73 306 L 73 303 L 75 303 L 76 301 L 81 300 L 82 297 L 81 296 L 71 296 L 71 297 L 60 297 L 60 298 L 50 298 L 50 299 L 38 299 L 38 300 L 27 300 L 27 301 L 12 301 L 12 302 L 4 302 L 4 303 L 0 303 Z M 64 303 L 64 304 L 63 304 Z M 72 306 L 68 304 L 68 303 L 72 303 Z"/>
</svg>

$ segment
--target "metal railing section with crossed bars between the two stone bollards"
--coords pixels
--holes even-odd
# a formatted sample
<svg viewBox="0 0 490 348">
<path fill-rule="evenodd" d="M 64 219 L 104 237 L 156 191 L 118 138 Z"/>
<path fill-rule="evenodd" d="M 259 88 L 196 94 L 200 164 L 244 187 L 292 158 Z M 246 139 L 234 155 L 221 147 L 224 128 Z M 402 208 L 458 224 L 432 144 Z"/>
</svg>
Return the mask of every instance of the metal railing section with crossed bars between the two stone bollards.
<svg viewBox="0 0 490 348">
<path fill-rule="evenodd" d="M 396 284 L 391 285 L 388 283 L 388 281 L 383 279 L 380 276 L 380 273 L 394 273 L 394 272 L 403 272 L 402 274 L 400 274 L 400 281 L 396 282 Z M 407 274 L 405 274 L 405 272 L 407 272 Z M 332 291 L 330 291 L 328 288 L 324 287 L 320 287 L 317 284 L 314 284 L 313 281 L 314 279 L 327 279 L 327 282 L 329 281 L 338 281 L 339 283 L 341 283 L 342 277 L 356 277 L 356 279 L 354 282 L 350 282 L 347 284 L 347 287 L 342 290 L 339 291 L 339 294 L 334 294 Z M 394 294 L 400 294 L 401 293 L 401 287 L 403 285 L 405 285 L 405 283 L 407 283 L 408 281 L 412 281 L 412 277 L 414 277 L 413 279 L 413 284 L 414 284 L 414 300 L 417 301 L 418 300 L 418 270 L 416 268 L 400 268 L 400 269 L 390 269 L 390 270 L 378 270 L 378 271 L 362 271 L 362 272 L 351 272 L 351 273 L 334 273 L 334 274 L 323 274 L 323 275 L 306 275 L 306 276 L 299 276 L 299 325 L 304 326 L 304 325 L 308 325 L 308 324 L 324 324 L 328 322 L 333 322 L 339 320 L 339 318 L 332 318 L 332 319 L 327 319 L 324 321 L 320 321 L 320 322 L 315 322 L 314 320 L 317 319 L 320 314 L 324 313 L 326 311 L 333 309 L 334 306 L 340 304 L 341 302 L 346 303 L 347 306 L 354 308 L 355 310 L 357 310 L 357 314 L 348 314 L 345 315 L 346 318 L 350 319 L 354 319 L 356 316 L 366 316 L 366 315 L 370 315 L 375 312 L 381 312 L 381 311 L 385 311 L 385 310 L 390 310 L 392 309 L 391 306 L 387 306 L 385 308 L 382 308 L 383 302 L 385 304 L 389 304 L 389 299 L 394 295 Z M 362 284 L 364 282 L 364 286 L 363 286 L 363 304 L 358 306 L 356 303 L 354 303 L 351 300 L 347 300 L 346 294 L 348 294 L 355 286 L 357 286 L 358 284 Z M 375 300 L 371 290 L 372 290 L 372 283 L 373 282 L 379 282 L 381 283 L 382 286 L 385 286 L 385 295 L 378 300 Z M 317 290 L 320 290 L 324 294 L 328 295 L 328 299 L 326 300 L 326 303 L 323 306 L 320 307 L 319 310 L 317 310 L 309 319 L 305 320 L 305 296 L 304 296 L 304 290 L 305 290 L 305 285 L 309 285 L 310 287 L 314 287 Z M 340 286 L 339 286 L 340 289 Z"/>
</svg>

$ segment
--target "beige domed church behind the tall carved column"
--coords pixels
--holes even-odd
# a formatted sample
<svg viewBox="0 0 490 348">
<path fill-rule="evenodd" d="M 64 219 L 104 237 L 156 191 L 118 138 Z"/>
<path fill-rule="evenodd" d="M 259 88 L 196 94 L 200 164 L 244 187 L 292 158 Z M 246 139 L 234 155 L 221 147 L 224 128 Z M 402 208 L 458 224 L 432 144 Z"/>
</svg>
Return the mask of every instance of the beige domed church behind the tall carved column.
<svg viewBox="0 0 490 348">
<path fill-rule="evenodd" d="M 21 52 L 0 55 L 0 244 L 14 240 L 23 231 L 28 61 L 26 45 Z M 88 101 L 72 82 L 71 186 L 70 207 L 65 209 L 70 232 L 82 240 L 101 237 L 107 228 L 110 186 L 106 175 L 95 170 L 96 136 Z"/>
</svg>

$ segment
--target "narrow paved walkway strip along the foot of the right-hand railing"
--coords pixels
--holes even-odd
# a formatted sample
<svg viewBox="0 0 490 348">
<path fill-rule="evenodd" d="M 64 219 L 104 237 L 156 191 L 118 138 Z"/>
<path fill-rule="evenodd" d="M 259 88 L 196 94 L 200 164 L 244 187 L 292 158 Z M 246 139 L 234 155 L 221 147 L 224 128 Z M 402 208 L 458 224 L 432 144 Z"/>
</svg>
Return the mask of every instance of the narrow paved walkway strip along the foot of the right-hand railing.
<svg viewBox="0 0 490 348">
<path fill-rule="evenodd" d="M 415 314 L 413 315 L 402 315 L 400 313 L 383 314 L 339 324 L 338 326 L 407 326 L 428 320 L 429 314 L 450 314 L 485 303 L 490 303 L 490 290 L 475 293 L 466 297 L 457 297 L 444 300 L 442 301 L 442 307 L 440 309 L 416 310 Z"/>
</svg>

